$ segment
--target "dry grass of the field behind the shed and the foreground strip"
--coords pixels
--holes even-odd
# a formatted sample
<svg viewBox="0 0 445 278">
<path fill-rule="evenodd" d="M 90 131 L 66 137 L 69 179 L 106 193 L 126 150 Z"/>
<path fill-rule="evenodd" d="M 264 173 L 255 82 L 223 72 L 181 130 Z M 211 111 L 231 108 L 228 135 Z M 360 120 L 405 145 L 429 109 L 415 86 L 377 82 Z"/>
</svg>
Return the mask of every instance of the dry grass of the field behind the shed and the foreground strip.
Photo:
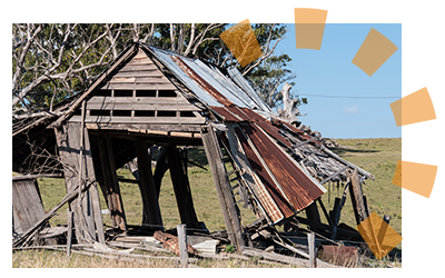
<svg viewBox="0 0 445 278">
<path fill-rule="evenodd" d="M 362 167 L 363 169 L 374 173 L 377 179 L 367 181 L 364 187 L 364 193 L 368 198 L 372 211 L 377 212 L 380 217 L 387 214 L 392 216 L 390 226 L 402 234 L 402 189 L 390 183 L 395 171 L 396 162 L 402 159 L 402 138 L 390 139 L 338 139 L 339 143 L 352 146 L 355 149 L 337 149 L 339 156 L 348 161 Z M 189 159 L 208 168 L 204 149 L 192 149 L 189 152 Z M 118 175 L 125 178 L 132 178 L 128 170 L 119 169 Z M 204 221 L 210 231 L 224 230 L 224 218 L 220 211 L 217 192 L 214 186 L 210 171 L 205 171 L 197 167 L 190 167 L 189 171 L 190 188 L 192 191 L 194 203 L 198 219 Z M 42 196 L 43 206 L 49 210 L 57 205 L 66 195 L 65 182 L 62 179 L 39 179 L 39 189 Z M 128 224 L 140 225 L 141 222 L 141 198 L 137 185 L 120 182 L 125 211 Z M 335 197 L 340 197 L 342 188 L 330 187 L 330 202 L 328 193 L 323 199 L 327 209 L 332 209 Z M 160 190 L 160 209 L 162 214 L 164 226 L 167 229 L 176 227 L 179 221 L 179 212 L 176 203 L 175 192 L 172 189 L 169 172 L 162 180 Z M 100 193 L 101 208 L 106 209 L 106 202 Z M 61 208 L 58 215 L 51 219 L 51 226 L 65 225 L 67 222 L 67 206 Z M 248 209 L 240 207 L 244 225 L 248 225 L 255 220 L 255 216 Z M 323 214 L 320 214 L 323 216 Z M 326 219 L 322 217 L 326 222 Z M 111 225 L 108 215 L 103 215 L 103 221 Z M 345 208 L 342 211 L 342 222 L 355 227 L 355 218 L 352 209 L 350 198 L 347 198 Z M 396 247 L 395 251 L 402 255 L 402 242 Z M 199 267 L 289 267 L 280 264 L 266 264 L 261 258 L 251 258 L 249 260 L 230 259 L 230 260 L 199 260 Z M 386 261 L 362 261 L 355 267 L 385 267 Z M 396 266 L 400 266 L 396 262 Z M 100 257 L 89 257 L 73 254 L 70 259 L 66 258 L 65 252 L 47 251 L 47 250 L 27 250 L 12 254 L 12 267 L 177 267 L 171 260 L 149 260 L 148 262 L 123 261 L 107 259 Z"/>
</svg>

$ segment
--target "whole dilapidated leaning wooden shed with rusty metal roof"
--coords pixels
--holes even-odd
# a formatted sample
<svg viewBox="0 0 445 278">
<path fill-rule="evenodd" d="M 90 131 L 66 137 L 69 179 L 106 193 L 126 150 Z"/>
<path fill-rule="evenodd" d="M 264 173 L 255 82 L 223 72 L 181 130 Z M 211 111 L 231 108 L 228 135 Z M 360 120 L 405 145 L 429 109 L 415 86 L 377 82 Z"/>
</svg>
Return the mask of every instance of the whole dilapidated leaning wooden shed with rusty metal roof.
<svg viewBox="0 0 445 278">
<path fill-rule="evenodd" d="M 178 146 L 204 146 L 227 234 L 238 251 L 250 240 L 240 224 L 239 202 L 249 206 L 265 225 L 290 222 L 305 209 L 306 224 L 336 232 L 335 214 L 327 216 L 327 228 L 319 220 L 315 201 L 323 205 L 326 189 L 322 185 L 329 180 L 349 185 L 354 170 L 359 180 L 374 178 L 333 153 L 318 137 L 278 118 L 236 68 L 219 68 L 145 43 L 127 47 L 85 92 L 57 105 L 52 112 L 13 122 L 12 170 L 31 175 L 27 176 L 31 180 L 63 177 L 67 197 L 62 201 L 75 212 L 77 240 L 105 242 L 98 188 L 113 227 L 126 231 L 116 169 L 134 158 L 138 158 L 134 182 L 142 197 L 142 224 L 162 229 L 158 196 L 165 170 L 151 170 L 147 149 L 154 145 L 162 146 L 180 219 L 189 228 L 201 224 L 187 160 Z M 228 162 L 235 170 L 227 170 Z M 21 186 L 13 179 L 12 187 Z M 19 225 L 23 206 L 16 206 L 14 191 L 12 205 L 13 222 Z M 359 205 L 366 207 L 363 200 Z M 338 217 L 342 206 L 336 208 Z M 28 240 L 48 214 L 34 225 L 16 229 L 14 245 Z M 357 209 L 358 218 L 364 217 L 360 214 Z"/>
</svg>

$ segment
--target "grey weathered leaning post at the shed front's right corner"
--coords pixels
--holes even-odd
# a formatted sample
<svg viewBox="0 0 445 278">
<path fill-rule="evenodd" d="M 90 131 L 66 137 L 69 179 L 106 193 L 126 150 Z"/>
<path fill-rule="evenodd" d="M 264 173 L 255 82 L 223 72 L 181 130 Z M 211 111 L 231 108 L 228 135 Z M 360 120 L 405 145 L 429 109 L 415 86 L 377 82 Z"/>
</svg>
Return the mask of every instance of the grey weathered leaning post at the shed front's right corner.
<svg viewBox="0 0 445 278">
<path fill-rule="evenodd" d="M 222 155 L 218 139 L 210 125 L 201 127 L 202 143 L 206 149 L 207 160 L 214 177 L 215 188 L 218 193 L 219 205 L 226 224 L 230 242 L 236 246 L 238 254 L 241 247 L 246 246 L 243 236 L 243 228 L 239 221 L 239 214 L 230 190 L 230 181 L 227 177 L 226 167 L 222 162 Z"/>
</svg>

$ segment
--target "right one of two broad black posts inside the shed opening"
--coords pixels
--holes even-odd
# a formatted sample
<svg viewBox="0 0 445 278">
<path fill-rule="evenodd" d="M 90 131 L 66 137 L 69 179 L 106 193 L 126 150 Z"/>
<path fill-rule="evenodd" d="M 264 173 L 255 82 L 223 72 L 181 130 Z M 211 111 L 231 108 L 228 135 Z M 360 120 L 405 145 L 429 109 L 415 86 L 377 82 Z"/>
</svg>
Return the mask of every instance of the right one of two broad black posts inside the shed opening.
<svg viewBox="0 0 445 278">
<path fill-rule="evenodd" d="M 172 145 L 166 147 L 166 152 L 181 224 L 186 224 L 189 228 L 199 228 L 198 217 L 196 216 L 194 200 L 191 198 L 190 185 L 187 175 L 184 172 L 179 150 Z"/>
</svg>

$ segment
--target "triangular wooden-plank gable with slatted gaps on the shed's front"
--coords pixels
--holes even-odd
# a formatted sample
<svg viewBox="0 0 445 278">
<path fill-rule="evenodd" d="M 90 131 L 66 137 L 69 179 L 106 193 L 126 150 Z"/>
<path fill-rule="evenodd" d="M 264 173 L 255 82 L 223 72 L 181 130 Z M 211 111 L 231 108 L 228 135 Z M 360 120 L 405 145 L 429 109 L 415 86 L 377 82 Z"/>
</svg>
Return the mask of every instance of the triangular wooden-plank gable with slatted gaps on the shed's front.
<svg viewBox="0 0 445 278">
<path fill-rule="evenodd" d="M 129 51 L 129 50 L 128 50 Z M 134 125 L 199 125 L 200 109 L 191 105 L 142 49 L 105 72 L 88 90 L 85 122 L 112 129 Z M 81 106 L 69 119 L 82 120 Z M 96 125 L 96 127 L 93 127 Z"/>
</svg>

